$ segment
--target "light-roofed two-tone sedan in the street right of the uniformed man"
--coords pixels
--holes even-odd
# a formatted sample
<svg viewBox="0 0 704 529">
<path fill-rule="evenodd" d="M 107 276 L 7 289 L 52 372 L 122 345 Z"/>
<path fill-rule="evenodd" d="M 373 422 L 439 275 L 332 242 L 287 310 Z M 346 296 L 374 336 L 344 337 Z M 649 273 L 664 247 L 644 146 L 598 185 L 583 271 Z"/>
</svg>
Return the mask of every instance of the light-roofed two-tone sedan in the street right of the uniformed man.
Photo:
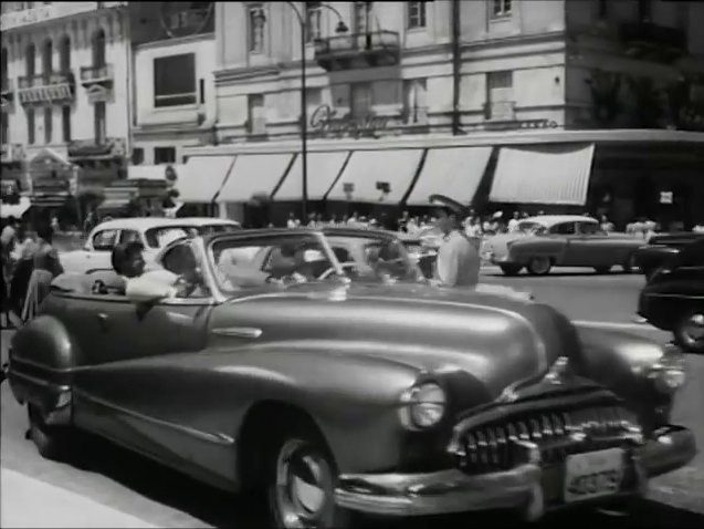
<svg viewBox="0 0 704 529">
<path fill-rule="evenodd" d="M 601 231 L 591 217 L 545 215 L 522 220 L 516 232 L 490 238 L 484 257 L 506 276 L 524 267 L 534 276 L 547 274 L 553 267 L 589 267 L 607 273 L 619 266 L 630 272 L 642 243 L 632 236 Z"/>
</svg>

